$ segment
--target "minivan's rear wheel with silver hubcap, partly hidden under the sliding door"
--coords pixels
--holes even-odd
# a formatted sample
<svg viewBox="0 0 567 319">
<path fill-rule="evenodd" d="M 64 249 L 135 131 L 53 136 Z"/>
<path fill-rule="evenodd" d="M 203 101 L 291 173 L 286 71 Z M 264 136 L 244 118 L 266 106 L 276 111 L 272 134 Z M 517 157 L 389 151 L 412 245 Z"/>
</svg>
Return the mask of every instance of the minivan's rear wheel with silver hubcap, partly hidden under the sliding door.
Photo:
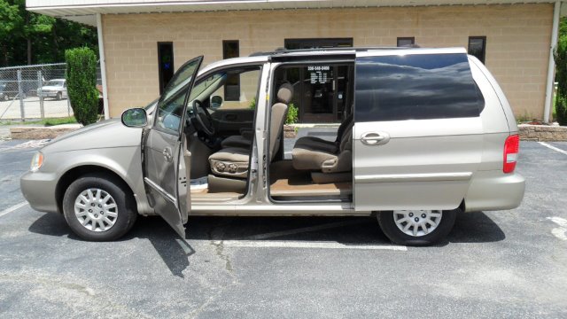
<svg viewBox="0 0 567 319">
<path fill-rule="evenodd" d="M 433 245 L 453 230 L 461 209 L 390 211 L 377 214 L 386 237 L 398 245 Z"/>
</svg>

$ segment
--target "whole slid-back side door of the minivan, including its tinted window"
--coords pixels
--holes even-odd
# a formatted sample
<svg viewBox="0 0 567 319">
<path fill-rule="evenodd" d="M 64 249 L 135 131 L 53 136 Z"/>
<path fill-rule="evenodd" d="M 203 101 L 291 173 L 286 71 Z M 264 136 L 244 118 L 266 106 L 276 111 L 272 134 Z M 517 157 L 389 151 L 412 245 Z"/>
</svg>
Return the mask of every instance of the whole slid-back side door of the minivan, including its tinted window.
<svg viewBox="0 0 567 319">
<path fill-rule="evenodd" d="M 483 149 L 466 52 L 357 52 L 355 67 L 355 209 L 458 207 Z"/>
</svg>

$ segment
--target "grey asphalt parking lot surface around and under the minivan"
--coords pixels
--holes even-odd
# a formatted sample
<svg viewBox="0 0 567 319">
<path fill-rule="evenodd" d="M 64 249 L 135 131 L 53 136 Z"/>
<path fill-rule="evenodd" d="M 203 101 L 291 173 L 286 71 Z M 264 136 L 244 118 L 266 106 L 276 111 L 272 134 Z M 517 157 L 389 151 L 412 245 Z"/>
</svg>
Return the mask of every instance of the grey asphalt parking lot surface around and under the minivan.
<svg viewBox="0 0 567 319">
<path fill-rule="evenodd" d="M 567 317 L 567 143 L 523 142 L 522 206 L 422 248 L 360 217 L 190 218 L 187 244 L 146 217 L 84 242 L 19 191 L 37 145 L 0 141 L 0 317 Z"/>
</svg>

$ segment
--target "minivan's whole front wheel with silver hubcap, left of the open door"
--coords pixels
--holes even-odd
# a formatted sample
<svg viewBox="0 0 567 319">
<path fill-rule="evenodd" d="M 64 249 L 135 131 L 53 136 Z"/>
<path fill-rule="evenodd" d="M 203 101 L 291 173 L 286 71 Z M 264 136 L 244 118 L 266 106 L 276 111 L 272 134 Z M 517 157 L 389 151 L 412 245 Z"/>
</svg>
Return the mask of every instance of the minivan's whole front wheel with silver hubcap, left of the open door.
<svg viewBox="0 0 567 319">
<path fill-rule="evenodd" d="M 91 241 L 115 240 L 136 222 L 136 200 L 113 176 L 84 175 L 67 188 L 63 213 L 77 236 Z"/>
</svg>

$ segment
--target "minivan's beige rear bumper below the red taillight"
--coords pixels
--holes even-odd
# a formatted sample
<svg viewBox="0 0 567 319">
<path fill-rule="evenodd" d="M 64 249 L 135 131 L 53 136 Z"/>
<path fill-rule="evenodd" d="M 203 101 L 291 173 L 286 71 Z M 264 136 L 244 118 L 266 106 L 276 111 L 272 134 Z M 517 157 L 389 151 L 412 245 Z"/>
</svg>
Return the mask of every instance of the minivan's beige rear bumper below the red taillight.
<svg viewBox="0 0 567 319">
<path fill-rule="evenodd" d="M 513 209 L 524 198 L 525 179 L 517 173 L 479 171 L 464 199 L 467 212 Z"/>
</svg>

